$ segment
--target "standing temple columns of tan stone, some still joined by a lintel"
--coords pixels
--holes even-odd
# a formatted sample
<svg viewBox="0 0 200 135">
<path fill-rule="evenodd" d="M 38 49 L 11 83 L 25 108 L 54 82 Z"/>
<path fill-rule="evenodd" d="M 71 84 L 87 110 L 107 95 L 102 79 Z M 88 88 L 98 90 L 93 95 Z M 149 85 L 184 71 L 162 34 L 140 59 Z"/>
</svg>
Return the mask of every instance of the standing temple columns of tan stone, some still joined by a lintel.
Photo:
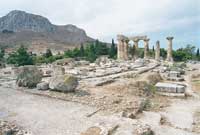
<svg viewBox="0 0 200 135">
<path fill-rule="evenodd" d="M 133 59 L 133 58 L 138 58 L 137 56 L 137 50 L 138 50 L 138 42 L 140 40 L 144 41 L 144 59 L 148 58 L 148 48 L 149 48 L 149 38 L 147 36 L 135 36 L 135 37 L 126 37 L 124 35 L 118 35 L 117 36 L 117 40 L 118 40 L 118 54 L 117 54 L 117 58 L 119 60 L 129 60 L 129 59 Z M 167 37 L 168 40 L 168 48 L 167 48 L 167 61 L 173 61 L 172 58 L 172 40 L 173 37 Z M 129 55 L 129 41 L 133 41 L 134 42 L 134 48 L 135 50 L 135 54 L 134 56 L 130 57 Z M 160 61 L 160 42 L 157 41 L 156 42 L 156 51 L 155 51 L 155 59 L 157 61 Z"/>
</svg>

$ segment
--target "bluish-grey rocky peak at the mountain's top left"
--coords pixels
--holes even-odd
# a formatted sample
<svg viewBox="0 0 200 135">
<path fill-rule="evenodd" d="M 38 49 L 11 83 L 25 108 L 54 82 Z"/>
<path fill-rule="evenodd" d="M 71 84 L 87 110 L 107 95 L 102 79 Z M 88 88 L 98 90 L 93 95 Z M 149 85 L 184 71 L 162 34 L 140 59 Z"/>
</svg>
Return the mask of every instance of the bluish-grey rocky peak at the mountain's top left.
<svg viewBox="0 0 200 135">
<path fill-rule="evenodd" d="M 54 29 L 54 26 L 47 18 L 26 13 L 25 11 L 13 10 L 6 16 L 0 18 L 0 31 L 50 32 Z"/>
</svg>

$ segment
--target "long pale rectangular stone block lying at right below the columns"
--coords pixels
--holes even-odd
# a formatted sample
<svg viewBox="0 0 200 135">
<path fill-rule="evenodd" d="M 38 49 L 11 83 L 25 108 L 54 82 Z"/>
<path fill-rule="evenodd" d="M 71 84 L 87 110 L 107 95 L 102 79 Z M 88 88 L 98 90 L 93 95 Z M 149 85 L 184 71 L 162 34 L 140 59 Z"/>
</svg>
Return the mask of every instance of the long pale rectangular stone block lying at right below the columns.
<svg viewBox="0 0 200 135">
<path fill-rule="evenodd" d="M 156 85 L 158 92 L 168 92 L 168 93 L 184 93 L 185 86 L 174 84 L 174 83 L 157 83 Z"/>
</svg>

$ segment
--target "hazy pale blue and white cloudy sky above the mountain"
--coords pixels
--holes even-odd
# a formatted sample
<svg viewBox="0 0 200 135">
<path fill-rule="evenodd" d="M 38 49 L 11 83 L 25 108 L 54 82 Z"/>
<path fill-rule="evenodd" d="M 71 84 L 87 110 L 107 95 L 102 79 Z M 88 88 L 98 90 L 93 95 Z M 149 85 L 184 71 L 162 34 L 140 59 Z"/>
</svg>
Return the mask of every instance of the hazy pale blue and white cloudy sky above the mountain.
<svg viewBox="0 0 200 135">
<path fill-rule="evenodd" d="M 75 24 L 93 38 L 110 42 L 117 34 L 148 35 L 166 45 L 200 47 L 200 0 L 0 0 L 0 16 L 24 10 L 53 24 Z"/>
</svg>

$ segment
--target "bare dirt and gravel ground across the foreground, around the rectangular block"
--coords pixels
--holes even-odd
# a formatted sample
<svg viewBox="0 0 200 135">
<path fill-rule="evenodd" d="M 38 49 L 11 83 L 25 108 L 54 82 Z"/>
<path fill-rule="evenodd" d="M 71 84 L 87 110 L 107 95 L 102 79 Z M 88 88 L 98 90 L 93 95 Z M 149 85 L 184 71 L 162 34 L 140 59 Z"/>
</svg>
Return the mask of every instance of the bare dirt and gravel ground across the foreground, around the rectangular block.
<svg viewBox="0 0 200 135">
<path fill-rule="evenodd" d="M 136 121 L 148 124 L 160 135 L 197 135 L 200 133 L 200 84 L 197 83 L 200 76 L 192 77 L 197 72 L 199 70 L 186 73 L 186 81 L 183 83 L 187 83 L 188 91 L 195 95 L 188 98 L 167 97 L 155 93 L 154 87 L 149 85 L 149 82 L 155 83 L 155 80 L 151 77 L 148 80 L 151 71 L 136 77 L 118 78 L 103 86 L 94 87 L 80 83 L 75 93 L 67 94 L 16 89 L 13 80 L 6 81 L 0 87 L 0 118 L 15 120 L 38 135 L 78 135 L 94 127 L 96 123 L 119 123 L 121 118 L 127 121 L 126 124 Z M 147 93 L 145 87 L 151 91 Z M 54 127 L 55 125 L 60 125 L 60 128 Z"/>
</svg>

